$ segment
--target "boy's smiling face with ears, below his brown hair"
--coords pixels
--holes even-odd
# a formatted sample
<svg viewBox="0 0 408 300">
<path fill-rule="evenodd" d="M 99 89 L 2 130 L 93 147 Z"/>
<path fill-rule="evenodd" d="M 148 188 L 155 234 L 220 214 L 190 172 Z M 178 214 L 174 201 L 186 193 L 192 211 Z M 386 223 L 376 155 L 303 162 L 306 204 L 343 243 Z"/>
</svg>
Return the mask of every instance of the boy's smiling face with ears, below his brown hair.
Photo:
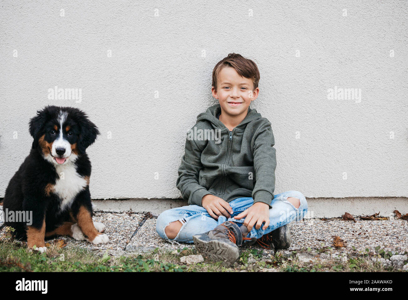
<svg viewBox="0 0 408 300">
<path fill-rule="evenodd" d="M 253 90 L 253 82 L 240 76 L 232 67 L 224 67 L 218 74 L 217 89 L 211 88 L 213 97 L 220 101 L 221 114 L 231 117 L 246 116 L 249 104 L 259 94 L 259 88 Z"/>
</svg>

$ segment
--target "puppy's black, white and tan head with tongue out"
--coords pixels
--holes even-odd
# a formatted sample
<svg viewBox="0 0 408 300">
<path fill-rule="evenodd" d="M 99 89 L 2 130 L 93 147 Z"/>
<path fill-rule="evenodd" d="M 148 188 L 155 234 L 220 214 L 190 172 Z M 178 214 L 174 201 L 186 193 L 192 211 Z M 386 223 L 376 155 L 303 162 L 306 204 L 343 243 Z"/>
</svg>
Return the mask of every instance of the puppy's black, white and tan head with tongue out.
<svg viewBox="0 0 408 300">
<path fill-rule="evenodd" d="M 37 111 L 37 116 L 30 120 L 29 131 L 34 138 L 32 147 L 40 147 L 44 158 L 54 164 L 75 160 L 99 134 L 83 111 L 57 106 Z"/>
</svg>

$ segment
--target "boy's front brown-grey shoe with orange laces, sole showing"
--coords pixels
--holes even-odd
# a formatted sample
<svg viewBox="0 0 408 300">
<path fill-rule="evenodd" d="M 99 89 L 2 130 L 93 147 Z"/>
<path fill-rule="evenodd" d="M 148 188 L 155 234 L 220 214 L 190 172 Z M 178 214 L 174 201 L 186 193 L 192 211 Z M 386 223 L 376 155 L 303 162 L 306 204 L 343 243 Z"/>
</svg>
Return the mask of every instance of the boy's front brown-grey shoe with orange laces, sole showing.
<svg viewBox="0 0 408 300">
<path fill-rule="evenodd" d="M 208 256 L 214 261 L 223 261 L 230 266 L 239 258 L 239 248 L 245 240 L 255 241 L 247 238 L 246 226 L 239 227 L 235 222 L 224 222 L 213 230 L 193 236 L 195 249 Z"/>
</svg>

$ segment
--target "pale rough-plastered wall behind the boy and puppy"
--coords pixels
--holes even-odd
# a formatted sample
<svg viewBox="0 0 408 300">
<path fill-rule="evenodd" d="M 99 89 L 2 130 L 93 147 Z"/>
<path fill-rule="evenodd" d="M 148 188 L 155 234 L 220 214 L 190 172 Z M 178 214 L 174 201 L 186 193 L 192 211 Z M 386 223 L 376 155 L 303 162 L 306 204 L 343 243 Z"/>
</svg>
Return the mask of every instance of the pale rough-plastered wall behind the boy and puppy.
<svg viewBox="0 0 408 300">
<path fill-rule="evenodd" d="M 29 153 L 29 118 L 83 109 L 92 198 L 178 198 L 186 131 L 217 103 L 228 53 L 261 73 L 251 104 L 272 123 L 275 193 L 408 196 L 405 1 L 58 1 L 0 4 L 0 197 Z M 110 55 L 111 54 L 111 55 Z M 48 89 L 82 100 L 49 100 Z M 328 99 L 357 89 L 361 100 Z"/>
</svg>

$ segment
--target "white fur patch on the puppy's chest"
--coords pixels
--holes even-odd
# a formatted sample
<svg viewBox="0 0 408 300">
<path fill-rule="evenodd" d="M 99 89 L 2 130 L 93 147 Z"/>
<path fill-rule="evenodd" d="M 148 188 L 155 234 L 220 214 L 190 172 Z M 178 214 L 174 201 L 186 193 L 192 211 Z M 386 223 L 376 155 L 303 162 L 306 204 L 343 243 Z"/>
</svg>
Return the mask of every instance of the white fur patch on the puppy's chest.
<svg viewBox="0 0 408 300">
<path fill-rule="evenodd" d="M 86 187 L 87 180 L 76 172 L 74 164 L 56 166 L 55 170 L 60 178 L 55 183 L 54 193 L 60 198 L 60 211 L 63 211 L 71 207 L 75 196 Z"/>
</svg>

